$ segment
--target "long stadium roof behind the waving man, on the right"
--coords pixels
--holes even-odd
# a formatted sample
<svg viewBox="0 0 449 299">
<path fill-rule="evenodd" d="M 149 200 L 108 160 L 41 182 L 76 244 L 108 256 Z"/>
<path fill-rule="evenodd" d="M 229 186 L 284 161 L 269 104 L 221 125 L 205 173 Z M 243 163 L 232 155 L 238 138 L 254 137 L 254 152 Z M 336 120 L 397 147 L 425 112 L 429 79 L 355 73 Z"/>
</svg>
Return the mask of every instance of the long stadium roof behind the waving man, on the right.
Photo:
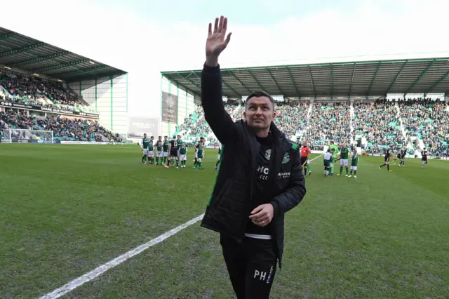
<svg viewBox="0 0 449 299">
<path fill-rule="evenodd" d="M 161 72 L 201 95 L 201 69 Z M 240 98 L 263 90 L 284 97 L 448 93 L 449 58 L 332 62 L 222 68 L 223 95 Z"/>
</svg>

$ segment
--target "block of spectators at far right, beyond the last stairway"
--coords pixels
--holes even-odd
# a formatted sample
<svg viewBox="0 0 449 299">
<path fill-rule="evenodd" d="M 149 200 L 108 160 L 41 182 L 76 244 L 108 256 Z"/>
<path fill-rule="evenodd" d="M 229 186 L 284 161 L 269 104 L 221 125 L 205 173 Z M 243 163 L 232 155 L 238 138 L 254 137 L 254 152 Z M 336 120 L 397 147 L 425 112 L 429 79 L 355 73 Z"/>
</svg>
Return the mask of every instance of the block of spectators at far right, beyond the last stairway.
<svg viewBox="0 0 449 299">
<path fill-rule="evenodd" d="M 432 156 L 449 157 L 449 112 L 440 100 L 408 99 L 398 102 L 403 126 L 410 137 L 422 139 Z"/>
</svg>

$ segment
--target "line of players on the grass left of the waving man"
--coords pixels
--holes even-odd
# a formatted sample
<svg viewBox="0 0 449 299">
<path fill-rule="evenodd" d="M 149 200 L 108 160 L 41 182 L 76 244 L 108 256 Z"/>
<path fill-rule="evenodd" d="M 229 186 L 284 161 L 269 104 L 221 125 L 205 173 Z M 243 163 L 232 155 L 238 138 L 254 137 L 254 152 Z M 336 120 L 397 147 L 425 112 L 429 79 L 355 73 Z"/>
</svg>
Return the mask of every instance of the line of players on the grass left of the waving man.
<svg viewBox="0 0 449 299">
<path fill-rule="evenodd" d="M 201 137 L 199 141 L 195 142 L 195 159 L 193 168 L 203 168 L 204 158 L 204 142 L 205 138 Z M 148 165 L 163 165 L 165 168 L 175 166 L 176 168 L 185 168 L 187 161 L 187 145 L 181 140 L 181 135 L 173 135 L 173 139 L 168 141 L 168 136 L 159 136 L 159 139 L 154 145 L 154 136 L 147 138 L 145 133 L 140 145 L 142 149 L 142 163 Z M 154 154 L 156 152 L 156 160 Z M 215 170 L 217 170 L 218 164 L 220 164 L 221 145 L 218 149 L 217 164 L 215 164 Z M 181 165 L 180 165 L 181 161 Z"/>
</svg>

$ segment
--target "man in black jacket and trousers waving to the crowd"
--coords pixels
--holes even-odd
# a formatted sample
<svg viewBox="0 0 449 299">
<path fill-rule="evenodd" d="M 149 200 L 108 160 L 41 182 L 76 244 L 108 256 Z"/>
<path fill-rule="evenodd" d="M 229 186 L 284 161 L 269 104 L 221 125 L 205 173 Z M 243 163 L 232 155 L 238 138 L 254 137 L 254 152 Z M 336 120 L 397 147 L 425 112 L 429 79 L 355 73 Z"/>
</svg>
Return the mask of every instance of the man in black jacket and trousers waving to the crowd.
<svg viewBox="0 0 449 299">
<path fill-rule="evenodd" d="M 232 121 L 222 102 L 218 57 L 231 40 L 227 18 L 209 24 L 201 74 L 204 117 L 222 143 L 221 166 L 202 227 L 220 233 L 237 298 L 269 298 L 282 265 L 284 214 L 306 193 L 296 143 L 274 125 L 274 100 L 264 91 L 246 98 L 244 121 Z"/>
</svg>

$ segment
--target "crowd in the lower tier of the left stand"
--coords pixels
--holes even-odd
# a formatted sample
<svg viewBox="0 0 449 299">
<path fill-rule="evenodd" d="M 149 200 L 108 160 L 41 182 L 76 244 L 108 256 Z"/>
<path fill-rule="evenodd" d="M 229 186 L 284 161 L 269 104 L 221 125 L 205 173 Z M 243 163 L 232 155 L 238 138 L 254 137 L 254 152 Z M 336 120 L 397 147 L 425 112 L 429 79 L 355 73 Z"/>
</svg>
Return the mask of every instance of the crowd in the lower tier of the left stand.
<svg viewBox="0 0 449 299">
<path fill-rule="evenodd" d="M 2 129 L 22 128 L 53 131 L 55 140 L 122 141 L 118 134 L 114 134 L 100 126 L 98 121 L 55 116 L 28 116 L 25 110 L 6 109 L 5 112 L 0 112 L 0 124 Z"/>
</svg>

